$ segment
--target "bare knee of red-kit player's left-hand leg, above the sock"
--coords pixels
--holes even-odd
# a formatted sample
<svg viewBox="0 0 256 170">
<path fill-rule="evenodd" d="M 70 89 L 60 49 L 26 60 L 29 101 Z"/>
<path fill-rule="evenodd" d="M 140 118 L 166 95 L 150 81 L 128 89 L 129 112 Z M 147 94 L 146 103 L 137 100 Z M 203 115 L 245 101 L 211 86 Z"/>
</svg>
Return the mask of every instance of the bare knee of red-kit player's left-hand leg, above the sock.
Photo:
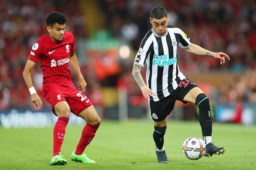
<svg viewBox="0 0 256 170">
<path fill-rule="evenodd" d="M 67 117 L 69 118 L 70 116 L 70 107 L 69 104 L 66 101 L 60 101 L 56 103 L 53 106 L 54 112 L 58 117 Z"/>
</svg>

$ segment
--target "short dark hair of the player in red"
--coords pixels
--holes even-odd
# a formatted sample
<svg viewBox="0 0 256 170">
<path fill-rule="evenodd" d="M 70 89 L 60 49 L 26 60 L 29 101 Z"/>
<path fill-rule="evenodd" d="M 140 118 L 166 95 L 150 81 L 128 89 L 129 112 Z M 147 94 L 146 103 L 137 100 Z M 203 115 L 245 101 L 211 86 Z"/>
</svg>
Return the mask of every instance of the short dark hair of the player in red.
<svg viewBox="0 0 256 170">
<path fill-rule="evenodd" d="M 67 22 L 67 18 L 61 12 L 53 11 L 46 18 L 47 26 L 52 27 L 55 23 L 57 24 L 65 24 Z"/>
</svg>

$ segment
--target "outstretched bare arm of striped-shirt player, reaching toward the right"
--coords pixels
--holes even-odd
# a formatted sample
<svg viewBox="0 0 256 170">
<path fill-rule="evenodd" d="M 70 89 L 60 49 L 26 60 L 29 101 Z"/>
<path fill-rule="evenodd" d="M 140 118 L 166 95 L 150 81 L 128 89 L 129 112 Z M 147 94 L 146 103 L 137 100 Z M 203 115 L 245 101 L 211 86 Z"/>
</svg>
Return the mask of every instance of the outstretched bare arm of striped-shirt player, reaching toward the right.
<svg viewBox="0 0 256 170">
<path fill-rule="evenodd" d="M 185 50 L 187 52 L 191 52 L 191 53 L 194 53 L 194 54 L 197 54 L 197 55 L 207 55 L 207 56 L 211 56 L 211 57 L 214 57 L 214 58 L 218 58 L 218 59 L 220 59 L 221 64 L 225 63 L 225 58 L 230 60 L 228 55 L 226 55 L 223 52 L 211 52 L 211 51 L 203 49 L 202 47 L 197 46 L 196 44 L 193 44 L 193 43 L 190 43 L 190 46 L 185 48 Z"/>
</svg>

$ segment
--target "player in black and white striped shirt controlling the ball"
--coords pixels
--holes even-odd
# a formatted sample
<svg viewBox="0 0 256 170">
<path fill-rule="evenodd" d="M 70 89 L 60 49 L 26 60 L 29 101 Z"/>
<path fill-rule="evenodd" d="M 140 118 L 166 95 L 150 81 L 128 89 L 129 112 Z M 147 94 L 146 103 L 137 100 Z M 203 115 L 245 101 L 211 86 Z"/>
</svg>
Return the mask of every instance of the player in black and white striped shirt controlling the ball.
<svg viewBox="0 0 256 170">
<path fill-rule="evenodd" d="M 156 143 L 158 162 L 169 163 L 163 147 L 167 127 L 166 117 L 172 112 L 176 100 L 194 103 L 199 107 L 199 122 L 206 144 L 205 156 L 223 154 L 226 149 L 212 143 L 212 115 L 209 98 L 179 70 L 177 48 L 180 46 L 187 52 L 214 57 L 220 60 L 220 64 L 225 63 L 225 58 L 230 59 L 223 52 L 211 52 L 190 43 L 190 38 L 186 33 L 178 27 L 168 25 L 168 21 L 168 14 L 162 6 L 156 6 L 151 10 L 152 29 L 142 40 L 132 69 L 135 81 L 140 86 L 144 97 L 149 100 L 154 121 L 153 139 Z M 140 73 L 145 62 L 147 63 L 147 84 Z"/>
</svg>

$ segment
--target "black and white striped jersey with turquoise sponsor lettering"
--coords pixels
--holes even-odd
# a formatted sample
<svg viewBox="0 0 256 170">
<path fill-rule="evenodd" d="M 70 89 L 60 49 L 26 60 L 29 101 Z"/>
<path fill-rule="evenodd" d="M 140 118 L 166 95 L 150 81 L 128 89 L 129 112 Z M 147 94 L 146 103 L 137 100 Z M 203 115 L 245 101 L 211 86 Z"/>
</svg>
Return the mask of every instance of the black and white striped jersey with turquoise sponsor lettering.
<svg viewBox="0 0 256 170">
<path fill-rule="evenodd" d="M 150 100 L 158 101 L 171 94 L 178 83 L 186 78 L 179 70 L 177 47 L 190 46 L 189 37 L 178 27 L 168 25 L 165 35 L 149 30 L 140 44 L 134 64 L 147 63 L 147 86 L 155 93 Z"/>
</svg>

